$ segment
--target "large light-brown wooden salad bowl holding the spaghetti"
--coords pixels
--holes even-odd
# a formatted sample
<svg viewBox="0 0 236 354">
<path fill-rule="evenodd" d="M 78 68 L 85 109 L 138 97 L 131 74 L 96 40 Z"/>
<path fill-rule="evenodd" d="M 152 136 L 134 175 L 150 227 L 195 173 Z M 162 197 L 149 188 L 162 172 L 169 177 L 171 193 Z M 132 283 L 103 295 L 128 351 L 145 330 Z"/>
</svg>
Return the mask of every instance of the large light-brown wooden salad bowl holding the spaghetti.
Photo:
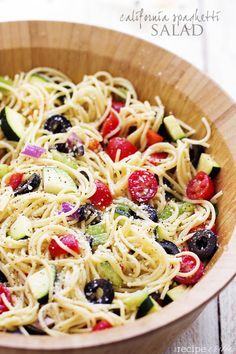
<svg viewBox="0 0 236 354">
<path fill-rule="evenodd" d="M 217 189 L 220 247 L 206 275 L 180 300 L 160 313 L 133 324 L 104 332 L 25 337 L 0 335 L 1 353 L 162 353 L 186 329 L 205 305 L 235 274 L 236 233 L 234 196 L 236 171 L 236 106 L 209 78 L 157 46 L 118 32 L 62 22 L 15 22 L 0 24 L 0 74 L 13 75 L 36 66 L 62 70 L 78 81 L 98 70 L 131 80 L 141 99 L 160 95 L 166 112 L 172 111 L 190 125 L 202 127 L 205 116 L 212 123 L 211 150 L 222 171 Z M 201 134 L 201 132 L 199 133 Z"/>
</svg>

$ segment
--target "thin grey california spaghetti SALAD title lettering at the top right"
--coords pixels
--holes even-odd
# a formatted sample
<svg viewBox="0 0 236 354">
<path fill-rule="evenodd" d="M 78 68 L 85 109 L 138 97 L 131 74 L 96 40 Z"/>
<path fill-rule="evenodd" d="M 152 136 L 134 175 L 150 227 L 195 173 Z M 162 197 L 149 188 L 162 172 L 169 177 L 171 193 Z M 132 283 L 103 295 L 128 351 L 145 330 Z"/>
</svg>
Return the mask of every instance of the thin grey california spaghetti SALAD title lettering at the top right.
<svg viewBox="0 0 236 354">
<path fill-rule="evenodd" d="M 120 21 L 136 23 L 139 30 L 144 24 L 150 27 L 151 36 L 200 36 L 204 32 L 204 24 L 218 22 L 221 11 L 207 10 L 201 12 L 196 8 L 192 13 L 175 12 L 168 13 L 159 10 L 155 13 L 148 13 L 141 8 L 132 10 L 130 13 L 122 13 Z"/>
</svg>

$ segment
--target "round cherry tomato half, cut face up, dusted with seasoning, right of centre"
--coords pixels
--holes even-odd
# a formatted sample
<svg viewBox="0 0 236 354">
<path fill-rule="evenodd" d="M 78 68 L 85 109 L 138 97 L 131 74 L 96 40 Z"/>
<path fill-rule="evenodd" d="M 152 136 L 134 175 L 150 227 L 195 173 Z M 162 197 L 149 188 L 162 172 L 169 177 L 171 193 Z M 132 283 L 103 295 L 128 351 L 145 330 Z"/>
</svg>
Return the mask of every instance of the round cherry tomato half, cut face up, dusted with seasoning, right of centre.
<svg viewBox="0 0 236 354">
<path fill-rule="evenodd" d="M 148 171 L 135 171 L 128 179 L 128 189 L 135 202 L 148 202 L 158 190 L 158 183 L 153 173 Z"/>
</svg>

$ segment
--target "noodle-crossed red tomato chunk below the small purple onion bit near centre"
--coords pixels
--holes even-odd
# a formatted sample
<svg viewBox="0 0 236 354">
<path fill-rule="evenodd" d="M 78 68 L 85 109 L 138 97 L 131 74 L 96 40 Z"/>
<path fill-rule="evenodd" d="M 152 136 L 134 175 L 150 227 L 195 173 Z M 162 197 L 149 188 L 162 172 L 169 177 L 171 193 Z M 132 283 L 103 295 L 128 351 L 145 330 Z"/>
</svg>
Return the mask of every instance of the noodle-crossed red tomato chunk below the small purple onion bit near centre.
<svg viewBox="0 0 236 354">
<path fill-rule="evenodd" d="M 74 235 L 61 236 L 60 241 L 72 251 L 78 254 L 80 253 L 79 243 Z M 67 254 L 67 252 L 63 248 L 61 248 L 55 240 L 51 240 L 48 246 L 48 250 L 50 252 L 51 257 L 53 258 L 61 256 L 62 254 Z"/>
</svg>

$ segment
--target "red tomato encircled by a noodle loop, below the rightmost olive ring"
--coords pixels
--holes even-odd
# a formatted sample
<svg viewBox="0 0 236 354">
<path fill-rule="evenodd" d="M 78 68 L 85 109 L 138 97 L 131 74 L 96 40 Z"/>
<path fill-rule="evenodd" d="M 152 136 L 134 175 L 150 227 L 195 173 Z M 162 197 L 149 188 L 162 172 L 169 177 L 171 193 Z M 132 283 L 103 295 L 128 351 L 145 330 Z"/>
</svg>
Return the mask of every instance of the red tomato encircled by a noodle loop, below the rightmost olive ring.
<svg viewBox="0 0 236 354">
<path fill-rule="evenodd" d="M 180 263 L 180 272 L 182 273 L 188 273 L 192 269 L 195 268 L 196 266 L 196 260 L 190 255 L 185 255 L 181 257 L 181 263 Z M 186 285 L 192 285 L 195 284 L 199 281 L 199 279 L 203 276 L 204 274 L 204 265 L 200 261 L 200 266 L 198 270 L 191 276 L 189 277 L 181 277 L 177 275 L 174 280 L 177 281 L 180 284 L 186 284 Z"/>
</svg>

